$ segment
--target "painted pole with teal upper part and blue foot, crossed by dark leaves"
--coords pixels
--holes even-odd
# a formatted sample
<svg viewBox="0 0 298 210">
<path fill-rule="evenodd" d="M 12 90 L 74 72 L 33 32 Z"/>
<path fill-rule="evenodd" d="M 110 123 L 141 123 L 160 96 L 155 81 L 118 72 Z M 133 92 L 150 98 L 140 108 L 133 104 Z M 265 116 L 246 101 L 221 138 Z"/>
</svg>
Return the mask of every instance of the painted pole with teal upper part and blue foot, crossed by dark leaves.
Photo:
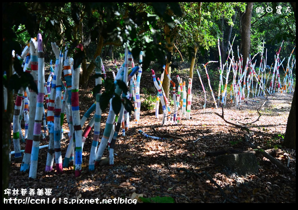
<svg viewBox="0 0 298 210">
<path fill-rule="evenodd" d="M 97 56 L 95 59 L 96 66 L 95 66 L 95 74 L 98 76 L 95 79 L 95 85 L 101 85 L 102 80 L 102 70 L 98 68 L 101 58 L 100 56 Z M 94 171 L 94 163 L 95 163 L 95 158 L 96 158 L 96 152 L 97 152 L 97 145 L 99 141 L 99 135 L 100 135 L 100 119 L 101 119 L 101 108 L 100 108 L 100 96 L 102 94 L 102 90 L 96 94 L 96 109 L 95 109 L 95 122 L 94 122 L 94 135 L 93 135 L 93 141 L 91 145 L 91 150 L 90 150 L 90 157 L 89 157 L 89 171 Z"/>
</svg>

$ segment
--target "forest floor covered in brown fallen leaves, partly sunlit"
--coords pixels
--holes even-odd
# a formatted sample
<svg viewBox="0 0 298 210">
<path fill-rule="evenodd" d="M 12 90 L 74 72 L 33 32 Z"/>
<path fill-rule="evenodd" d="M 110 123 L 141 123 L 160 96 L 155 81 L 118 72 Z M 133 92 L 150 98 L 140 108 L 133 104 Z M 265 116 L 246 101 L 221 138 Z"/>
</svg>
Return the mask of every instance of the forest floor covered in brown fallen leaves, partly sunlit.
<svg viewBox="0 0 298 210">
<path fill-rule="evenodd" d="M 104 62 L 107 77 L 112 78 L 114 65 Z M 172 70 L 172 79 L 177 83 L 176 75 L 187 81 L 186 66 L 179 65 Z M 47 68 L 47 73 L 49 70 Z M 156 77 L 160 77 L 160 70 L 155 69 Z M 205 75 L 202 75 L 204 77 Z M 47 79 L 47 76 L 46 76 Z M 95 85 L 94 77 L 90 77 L 88 88 L 79 90 L 81 116 L 94 103 L 92 88 Z M 206 89 L 208 83 L 204 83 Z M 154 98 L 156 93 L 148 93 L 153 86 L 152 74 L 143 71 L 140 85 L 141 102 L 149 97 Z M 213 90 L 215 93 L 217 90 Z M 172 92 L 172 91 L 170 91 Z M 135 124 L 131 120 L 130 128 L 125 136 L 118 136 L 114 155 L 114 166 L 104 165 L 88 170 L 89 154 L 93 140 L 93 128 L 86 139 L 83 148 L 82 175 L 75 178 L 73 166 L 63 169 L 63 174 L 57 175 L 55 166 L 51 172 L 45 172 L 47 150 L 41 149 L 38 159 L 38 173 L 36 179 L 28 177 L 28 173 L 20 172 L 21 163 L 15 163 L 12 155 L 9 188 L 52 189 L 49 196 L 30 196 L 31 198 L 64 198 L 68 199 L 113 199 L 138 197 L 172 197 L 175 203 L 296 203 L 296 151 L 283 147 L 283 135 L 286 130 L 293 93 L 274 93 L 268 96 L 268 101 L 260 109 L 261 117 L 255 121 L 259 108 L 265 98 L 263 96 L 251 98 L 247 104 L 232 105 L 227 100 L 224 107 L 224 118 L 233 123 L 245 125 L 254 132 L 252 142 L 264 150 L 277 148 L 276 158 L 283 164 L 290 157 L 289 173 L 280 170 L 276 165 L 262 156 L 257 157 L 258 173 L 242 176 L 228 168 L 215 163 L 215 157 L 208 157 L 207 152 L 233 148 L 239 151 L 251 151 L 242 139 L 245 134 L 240 128 L 230 125 L 216 115 L 221 115 L 221 108 L 215 105 L 207 92 L 207 105 L 203 114 L 204 94 L 196 72 L 194 72 L 192 86 L 192 119 L 181 119 L 178 125 L 171 123 L 161 126 L 161 117 L 155 118 L 155 109 L 141 110 L 140 121 Z M 217 94 L 216 94 L 217 95 Z M 216 97 L 216 96 L 215 96 Z M 91 114 L 91 116 L 94 113 Z M 101 118 L 101 134 L 105 128 L 108 109 Z M 90 119 L 90 118 L 89 118 Z M 133 113 L 132 113 L 133 119 Z M 66 127 L 66 118 L 64 121 Z M 85 123 L 86 127 L 88 121 Z M 68 128 L 66 127 L 68 130 Z M 153 140 L 138 133 L 142 130 L 149 135 L 164 137 L 166 134 L 181 139 Z M 24 133 L 23 133 L 24 134 Z M 69 139 L 67 134 L 61 141 L 62 157 L 64 157 Z M 41 145 L 48 144 L 41 141 Z M 21 143 L 24 149 L 25 143 Z M 13 144 L 11 145 L 13 151 Z M 286 154 L 285 154 L 286 153 Z M 108 157 L 108 149 L 103 157 Z M 54 164 L 55 165 L 55 164 Z M 179 168 L 179 169 L 178 169 Z M 187 169 L 187 170 L 184 170 Z M 206 171 L 218 186 L 210 181 L 202 172 Z M 28 197 L 19 195 L 18 198 Z M 13 197 L 13 196 L 11 196 Z M 227 198 L 227 199 L 225 199 Z M 142 202 L 138 199 L 138 202 Z"/>
</svg>

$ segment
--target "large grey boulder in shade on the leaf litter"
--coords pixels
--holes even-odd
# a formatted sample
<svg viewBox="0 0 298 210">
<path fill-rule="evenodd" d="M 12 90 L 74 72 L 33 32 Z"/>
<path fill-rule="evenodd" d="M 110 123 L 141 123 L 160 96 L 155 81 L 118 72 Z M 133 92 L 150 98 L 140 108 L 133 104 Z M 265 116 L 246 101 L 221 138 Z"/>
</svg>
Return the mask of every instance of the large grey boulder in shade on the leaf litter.
<svg viewBox="0 0 298 210">
<path fill-rule="evenodd" d="M 220 155 L 215 158 L 215 163 L 222 164 L 231 171 L 240 175 L 257 174 L 259 166 L 253 153 Z"/>
</svg>

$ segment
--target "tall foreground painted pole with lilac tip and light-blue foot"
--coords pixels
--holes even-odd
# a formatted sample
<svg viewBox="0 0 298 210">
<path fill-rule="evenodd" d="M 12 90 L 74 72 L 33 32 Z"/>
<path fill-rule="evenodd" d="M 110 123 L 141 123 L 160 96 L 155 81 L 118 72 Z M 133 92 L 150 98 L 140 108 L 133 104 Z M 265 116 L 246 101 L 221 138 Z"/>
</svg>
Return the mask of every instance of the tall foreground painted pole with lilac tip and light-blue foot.
<svg viewBox="0 0 298 210">
<path fill-rule="evenodd" d="M 37 173 L 40 131 L 41 131 L 42 114 L 44 109 L 44 51 L 43 51 L 42 45 L 43 45 L 42 37 L 41 37 L 41 34 L 39 33 L 38 34 L 38 85 L 37 85 L 38 94 L 37 94 L 37 104 L 36 104 L 36 111 L 35 111 L 31 163 L 30 163 L 30 170 L 29 170 L 29 177 L 33 179 L 36 178 L 36 173 Z M 32 55 L 34 54 L 34 52 L 33 50 L 30 50 L 30 51 L 31 51 L 31 58 L 32 58 Z M 33 70 L 32 66 L 31 66 L 31 70 Z"/>
</svg>

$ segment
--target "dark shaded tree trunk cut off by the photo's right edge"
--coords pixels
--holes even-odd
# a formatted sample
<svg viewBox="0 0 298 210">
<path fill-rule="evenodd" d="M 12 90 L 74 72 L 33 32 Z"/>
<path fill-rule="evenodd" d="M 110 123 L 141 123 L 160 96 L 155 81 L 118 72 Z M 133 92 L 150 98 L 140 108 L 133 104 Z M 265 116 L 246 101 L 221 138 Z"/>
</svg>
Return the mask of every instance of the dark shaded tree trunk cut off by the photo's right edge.
<svg viewBox="0 0 298 210">
<path fill-rule="evenodd" d="M 294 16 L 296 19 L 296 3 L 291 2 L 291 5 L 293 7 Z M 286 147 L 295 149 L 295 150 L 296 150 L 296 92 L 297 91 L 295 88 L 292 106 L 288 117 L 287 128 L 285 130 L 285 140 L 283 142 L 283 144 Z"/>
</svg>

